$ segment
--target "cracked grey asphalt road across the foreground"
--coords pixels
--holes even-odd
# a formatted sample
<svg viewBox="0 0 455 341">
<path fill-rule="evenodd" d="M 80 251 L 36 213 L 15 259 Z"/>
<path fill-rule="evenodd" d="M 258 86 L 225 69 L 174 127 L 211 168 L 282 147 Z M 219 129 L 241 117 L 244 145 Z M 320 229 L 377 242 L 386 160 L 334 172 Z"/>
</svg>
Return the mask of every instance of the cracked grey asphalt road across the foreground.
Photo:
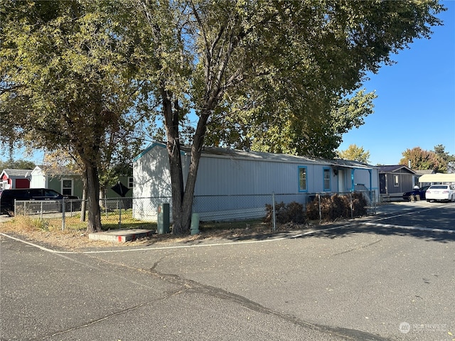
<svg viewBox="0 0 455 341">
<path fill-rule="evenodd" d="M 1 235 L 1 340 L 453 340 L 455 204 L 65 253 Z"/>
</svg>

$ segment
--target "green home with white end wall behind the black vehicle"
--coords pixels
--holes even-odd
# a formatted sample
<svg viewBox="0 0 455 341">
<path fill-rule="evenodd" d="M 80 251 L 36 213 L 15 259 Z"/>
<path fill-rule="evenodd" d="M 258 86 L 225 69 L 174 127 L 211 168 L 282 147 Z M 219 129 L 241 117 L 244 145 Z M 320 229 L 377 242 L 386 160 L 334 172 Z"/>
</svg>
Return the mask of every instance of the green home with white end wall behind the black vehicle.
<svg viewBox="0 0 455 341">
<path fill-rule="evenodd" d="M 82 198 L 82 177 L 63 166 L 36 166 L 31 171 L 31 188 L 50 188 L 63 195 Z"/>
</svg>

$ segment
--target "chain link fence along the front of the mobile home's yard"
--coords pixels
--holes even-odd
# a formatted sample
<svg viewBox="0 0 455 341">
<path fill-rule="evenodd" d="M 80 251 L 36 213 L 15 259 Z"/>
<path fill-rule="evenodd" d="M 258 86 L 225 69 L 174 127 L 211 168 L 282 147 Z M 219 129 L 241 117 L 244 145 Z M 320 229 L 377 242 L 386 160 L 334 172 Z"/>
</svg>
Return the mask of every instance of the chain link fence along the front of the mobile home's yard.
<svg viewBox="0 0 455 341">
<path fill-rule="evenodd" d="M 193 213 L 198 213 L 202 222 L 217 222 L 228 220 L 259 220 L 267 214 L 267 205 L 272 207 L 275 217 L 275 204 L 283 202 L 299 203 L 304 210 L 310 203 L 316 203 L 319 219 L 323 220 L 323 198 L 333 195 L 346 197 L 350 217 L 355 217 L 353 195 L 361 193 L 366 202 L 365 210 L 368 215 L 376 213 L 376 195 L 374 191 L 358 191 L 349 193 L 270 193 L 264 195 L 196 195 L 193 198 Z M 316 201 L 315 201 L 316 200 Z M 119 227 L 126 218 L 156 222 L 158 207 L 163 203 L 172 205 L 171 197 L 119 197 L 100 200 L 101 219 L 103 221 L 118 221 Z M 16 200 L 15 215 L 34 215 L 41 219 L 48 217 L 61 218 L 62 229 L 65 228 L 65 218 L 80 216 L 82 200 Z M 172 207 L 171 210 L 172 212 Z M 172 220 L 172 217 L 171 217 Z M 273 228 L 276 220 L 273 219 Z"/>
</svg>

